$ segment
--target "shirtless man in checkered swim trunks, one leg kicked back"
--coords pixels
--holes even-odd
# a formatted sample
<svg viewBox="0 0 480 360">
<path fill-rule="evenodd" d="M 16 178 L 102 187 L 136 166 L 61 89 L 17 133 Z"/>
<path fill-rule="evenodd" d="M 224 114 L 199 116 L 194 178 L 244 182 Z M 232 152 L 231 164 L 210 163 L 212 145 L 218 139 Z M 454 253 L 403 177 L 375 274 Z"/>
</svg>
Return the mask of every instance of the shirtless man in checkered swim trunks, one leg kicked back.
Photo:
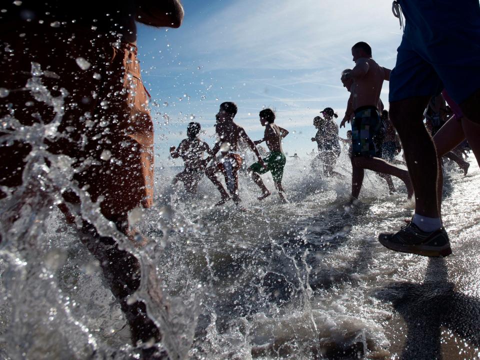
<svg viewBox="0 0 480 360">
<path fill-rule="evenodd" d="M 379 66 L 371 58 L 371 47 L 366 42 L 357 42 L 351 48 L 355 66 L 342 74 L 345 87 L 350 85 L 347 113 L 340 123 L 345 126 L 352 114 L 352 181 L 351 201 L 358 198 L 363 182 L 364 169 L 399 177 L 406 185 L 408 198 L 413 187 L 408 171 L 395 167 L 383 159 L 373 157 L 376 153 L 373 137 L 380 126 L 380 90 L 383 80 L 389 79 L 390 70 Z M 348 87 L 347 87 L 348 88 Z"/>
</svg>

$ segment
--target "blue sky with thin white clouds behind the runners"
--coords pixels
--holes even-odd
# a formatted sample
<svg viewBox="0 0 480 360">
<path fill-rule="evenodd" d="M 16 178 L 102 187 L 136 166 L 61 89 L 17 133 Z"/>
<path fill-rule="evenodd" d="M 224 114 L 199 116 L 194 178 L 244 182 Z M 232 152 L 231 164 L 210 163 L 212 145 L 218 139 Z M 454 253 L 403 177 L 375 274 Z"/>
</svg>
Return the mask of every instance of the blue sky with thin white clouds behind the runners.
<svg viewBox="0 0 480 360">
<path fill-rule="evenodd" d="M 179 28 L 138 26 L 143 82 L 151 94 L 156 166 L 181 165 L 168 148 L 190 121 L 213 145 L 215 113 L 238 106 L 235 122 L 263 137 L 258 112 L 276 113 L 290 134 L 287 155 L 315 148 L 313 117 L 329 106 L 343 117 L 348 92 L 339 80 L 354 63 L 351 46 L 366 41 L 373 58 L 392 68 L 402 30 L 385 0 L 183 0 Z M 381 92 L 388 104 L 388 82 Z M 349 125 L 347 124 L 347 128 Z M 346 129 L 340 129 L 345 137 Z"/>
</svg>

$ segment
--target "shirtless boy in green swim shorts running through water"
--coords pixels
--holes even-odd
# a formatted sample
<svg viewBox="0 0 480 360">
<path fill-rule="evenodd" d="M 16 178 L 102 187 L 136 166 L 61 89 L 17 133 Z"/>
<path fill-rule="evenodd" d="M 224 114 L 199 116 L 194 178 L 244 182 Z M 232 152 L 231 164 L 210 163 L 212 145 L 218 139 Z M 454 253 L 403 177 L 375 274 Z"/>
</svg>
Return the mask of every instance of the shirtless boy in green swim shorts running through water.
<svg viewBox="0 0 480 360">
<path fill-rule="evenodd" d="M 263 200 L 265 197 L 270 196 L 270 191 L 266 188 L 265 184 L 261 180 L 260 175 L 267 171 L 271 172 L 271 177 L 273 177 L 273 183 L 275 188 L 278 190 L 278 196 L 283 202 L 286 202 L 285 196 L 283 195 L 284 190 L 281 186 L 281 178 L 283 176 L 283 167 L 285 166 L 285 154 L 281 147 L 281 139 L 288 135 L 288 130 L 277 126 L 273 122 L 275 121 L 275 113 L 273 110 L 266 108 L 260 111 L 260 123 L 262 126 L 265 126 L 265 132 L 263 138 L 260 140 L 254 141 L 255 144 L 259 144 L 265 141 L 266 146 L 270 150 L 270 153 L 267 157 L 263 159 L 263 162 L 266 164 L 266 167 L 263 166 L 260 162 L 255 162 L 248 168 L 251 178 L 255 183 L 260 187 L 262 195 L 258 196 L 258 200 Z"/>
</svg>

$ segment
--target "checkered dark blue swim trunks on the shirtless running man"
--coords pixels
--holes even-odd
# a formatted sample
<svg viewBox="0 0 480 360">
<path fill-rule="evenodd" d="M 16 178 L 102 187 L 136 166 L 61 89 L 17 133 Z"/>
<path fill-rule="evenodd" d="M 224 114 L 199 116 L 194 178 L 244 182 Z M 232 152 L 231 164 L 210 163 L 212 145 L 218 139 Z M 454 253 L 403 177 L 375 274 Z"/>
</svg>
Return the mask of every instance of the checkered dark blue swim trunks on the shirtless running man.
<svg viewBox="0 0 480 360">
<path fill-rule="evenodd" d="M 355 110 L 355 117 L 351 122 L 353 157 L 376 155 L 374 138 L 380 125 L 380 113 L 375 106 L 360 106 Z"/>
</svg>

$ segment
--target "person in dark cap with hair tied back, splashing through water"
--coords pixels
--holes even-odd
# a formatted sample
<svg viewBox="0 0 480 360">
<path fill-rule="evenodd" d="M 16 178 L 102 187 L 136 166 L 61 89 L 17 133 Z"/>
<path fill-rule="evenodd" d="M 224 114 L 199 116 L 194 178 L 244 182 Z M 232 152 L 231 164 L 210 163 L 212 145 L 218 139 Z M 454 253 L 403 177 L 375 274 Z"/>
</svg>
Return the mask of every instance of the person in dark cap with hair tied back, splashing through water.
<svg viewBox="0 0 480 360">
<path fill-rule="evenodd" d="M 333 117 L 338 115 L 333 111 L 331 107 L 325 107 L 321 111 L 324 119 L 320 116 L 316 116 L 313 119 L 313 126 L 317 128 L 315 137 L 312 137 L 312 141 L 316 141 L 318 150 L 320 153 L 313 159 L 313 163 L 318 160 L 323 164 L 323 174 L 327 177 L 337 176 L 342 177 L 336 171 L 333 171 L 336 159 L 340 155 L 340 142 L 338 141 L 338 125 L 333 120 Z"/>
</svg>

